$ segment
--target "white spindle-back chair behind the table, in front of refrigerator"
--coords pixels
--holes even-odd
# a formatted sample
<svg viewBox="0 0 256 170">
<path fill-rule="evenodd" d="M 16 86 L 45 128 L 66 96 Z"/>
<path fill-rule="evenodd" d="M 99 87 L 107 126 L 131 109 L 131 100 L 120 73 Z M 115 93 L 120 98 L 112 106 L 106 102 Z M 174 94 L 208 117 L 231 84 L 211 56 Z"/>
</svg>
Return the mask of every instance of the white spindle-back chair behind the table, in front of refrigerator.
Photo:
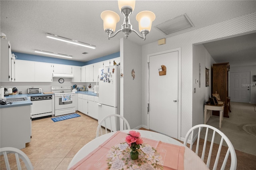
<svg viewBox="0 0 256 170">
<path fill-rule="evenodd" d="M 118 124 L 119 124 L 119 126 L 118 126 Z M 105 125 L 107 125 L 107 126 L 105 126 Z M 102 127 L 105 128 L 105 134 L 108 132 L 116 131 L 116 130 L 129 130 L 130 129 L 130 125 L 129 125 L 128 121 L 123 116 L 117 115 L 117 114 L 108 115 L 100 121 L 100 123 L 97 127 L 96 137 L 98 137 L 99 134 L 100 135 L 103 134 Z"/>
</svg>

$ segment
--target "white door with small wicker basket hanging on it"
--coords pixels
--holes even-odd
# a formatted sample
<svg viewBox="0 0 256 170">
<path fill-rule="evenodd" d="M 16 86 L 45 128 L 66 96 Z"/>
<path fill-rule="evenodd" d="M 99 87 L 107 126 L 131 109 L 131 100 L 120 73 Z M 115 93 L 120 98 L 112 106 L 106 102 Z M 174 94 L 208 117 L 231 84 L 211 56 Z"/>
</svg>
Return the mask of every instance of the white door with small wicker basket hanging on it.
<svg viewBox="0 0 256 170">
<path fill-rule="evenodd" d="M 149 128 L 178 138 L 178 51 L 149 57 Z M 166 66 L 166 75 L 158 69 Z"/>
</svg>

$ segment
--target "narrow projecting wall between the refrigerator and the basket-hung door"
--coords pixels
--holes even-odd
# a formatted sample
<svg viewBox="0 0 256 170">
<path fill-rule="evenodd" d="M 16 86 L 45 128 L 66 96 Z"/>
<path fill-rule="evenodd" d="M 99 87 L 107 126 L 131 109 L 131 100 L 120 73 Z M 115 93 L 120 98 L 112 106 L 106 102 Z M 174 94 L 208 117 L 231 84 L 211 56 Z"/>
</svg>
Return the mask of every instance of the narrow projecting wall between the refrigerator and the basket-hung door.
<svg viewBox="0 0 256 170">
<path fill-rule="evenodd" d="M 120 72 L 124 74 L 120 79 L 120 115 L 123 112 L 131 129 L 136 129 L 142 125 L 142 47 L 126 38 L 120 41 Z M 132 69 L 135 72 L 134 79 Z"/>
</svg>

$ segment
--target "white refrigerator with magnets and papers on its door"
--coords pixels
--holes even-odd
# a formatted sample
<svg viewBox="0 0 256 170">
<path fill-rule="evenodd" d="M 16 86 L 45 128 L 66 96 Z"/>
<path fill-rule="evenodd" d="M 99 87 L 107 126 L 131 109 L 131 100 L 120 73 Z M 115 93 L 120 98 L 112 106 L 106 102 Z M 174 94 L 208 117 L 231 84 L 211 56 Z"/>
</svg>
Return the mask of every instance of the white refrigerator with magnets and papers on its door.
<svg viewBox="0 0 256 170">
<path fill-rule="evenodd" d="M 98 123 L 106 116 L 120 115 L 120 66 L 113 65 L 99 69 L 98 75 Z M 112 128 L 118 130 L 117 119 L 112 119 Z M 110 129 L 110 122 L 106 122 Z M 105 127 L 105 124 L 103 124 Z"/>
</svg>

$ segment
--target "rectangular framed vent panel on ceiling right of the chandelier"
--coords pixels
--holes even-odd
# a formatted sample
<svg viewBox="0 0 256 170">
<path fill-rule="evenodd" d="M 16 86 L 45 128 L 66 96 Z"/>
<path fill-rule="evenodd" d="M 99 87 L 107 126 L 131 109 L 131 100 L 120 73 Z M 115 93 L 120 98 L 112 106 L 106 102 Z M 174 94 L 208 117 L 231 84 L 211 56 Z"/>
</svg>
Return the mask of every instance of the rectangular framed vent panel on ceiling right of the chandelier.
<svg viewBox="0 0 256 170">
<path fill-rule="evenodd" d="M 168 20 L 162 24 L 159 24 L 155 28 L 163 32 L 165 35 L 169 35 L 193 27 L 194 25 L 188 18 L 187 14 L 184 14 Z"/>
</svg>

